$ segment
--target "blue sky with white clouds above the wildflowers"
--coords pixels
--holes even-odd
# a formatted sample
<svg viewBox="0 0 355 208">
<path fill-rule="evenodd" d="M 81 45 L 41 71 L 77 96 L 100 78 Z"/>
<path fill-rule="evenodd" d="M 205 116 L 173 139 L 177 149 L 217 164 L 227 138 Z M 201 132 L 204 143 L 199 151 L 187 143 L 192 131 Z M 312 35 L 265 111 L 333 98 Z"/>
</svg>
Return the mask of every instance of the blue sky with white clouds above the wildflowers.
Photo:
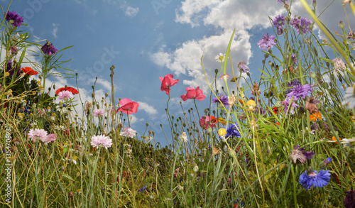
<svg viewBox="0 0 355 208">
<path fill-rule="evenodd" d="M 331 2 L 318 0 L 317 9 L 321 11 Z M 4 9 L 8 3 L 2 1 Z M 244 60 L 249 63 L 253 79 L 258 80 L 263 53 L 256 43 L 263 33 L 273 34 L 268 16 L 285 13 L 283 4 L 275 0 L 16 0 L 9 11 L 24 17 L 28 26 L 21 29 L 31 31 L 31 41 L 48 39 L 59 50 L 74 46 L 63 53 L 63 60 L 72 59 L 65 67 L 78 73 L 79 91 L 84 100 L 91 100 L 95 77 L 98 77 L 98 101 L 111 92 L 109 67 L 115 65 L 116 103 L 119 98 L 139 102 L 132 127 L 140 138 L 148 123 L 156 132 L 155 141 L 160 143 L 166 142 L 159 124 L 163 124 L 165 131 L 169 126 L 165 116 L 168 96 L 160 92 L 158 77 L 171 73 L 180 79 L 171 89 L 170 114 L 182 116 L 180 95 L 186 93 L 186 87 L 197 86 L 207 96 L 206 100 L 197 101 L 202 112 L 209 104 L 209 92 L 200 65 L 201 56 L 204 55 L 207 79 L 212 81 L 214 69 L 221 67 L 214 57 L 225 53 L 231 32 L 236 28 L 231 46 L 234 68 Z M 292 11 L 297 16 L 308 17 L 298 1 Z M 336 0 L 322 15 L 322 21 L 332 31 L 339 31 L 340 20 L 346 22 L 341 1 Z M 230 68 L 227 73 L 232 74 Z M 76 87 L 74 79 L 51 77 L 50 81 L 57 87 L 65 84 Z M 190 109 L 193 102 L 183 102 L 183 106 L 185 110 Z"/>
</svg>

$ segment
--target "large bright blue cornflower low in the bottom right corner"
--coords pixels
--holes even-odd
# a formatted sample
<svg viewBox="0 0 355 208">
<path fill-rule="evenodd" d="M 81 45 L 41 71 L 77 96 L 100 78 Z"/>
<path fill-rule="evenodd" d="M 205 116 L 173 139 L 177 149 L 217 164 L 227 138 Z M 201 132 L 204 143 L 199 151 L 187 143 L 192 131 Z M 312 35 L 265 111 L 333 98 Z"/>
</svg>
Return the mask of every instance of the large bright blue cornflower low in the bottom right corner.
<svg viewBox="0 0 355 208">
<path fill-rule="evenodd" d="M 330 173 L 329 170 L 320 170 L 317 173 L 317 170 L 313 170 L 309 174 L 307 171 L 300 175 L 300 184 L 302 187 L 305 187 L 306 190 L 309 190 L 310 187 L 324 187 L 327 186 L 330 180 Z"/>
</svg>

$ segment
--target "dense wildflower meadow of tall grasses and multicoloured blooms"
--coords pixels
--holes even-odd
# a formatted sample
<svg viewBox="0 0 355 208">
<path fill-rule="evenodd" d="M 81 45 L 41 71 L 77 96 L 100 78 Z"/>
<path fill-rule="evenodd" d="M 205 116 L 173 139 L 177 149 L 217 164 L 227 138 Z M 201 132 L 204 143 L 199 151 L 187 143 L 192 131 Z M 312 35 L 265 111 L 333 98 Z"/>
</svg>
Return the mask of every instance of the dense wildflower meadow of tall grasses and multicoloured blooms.
<svg viewBox="0 0 355 208">
<path fill-rule="evenodd" d="M 355 33 L 343 21 L 341 33 L 329 31 L 315 0 L 300 0 L 312 18 L 277 2 L 284 13 L 257 43 L 260 76 L 233 62 L 233 32 L 216 51 L 209 90 L 181 94 L 183 114 L 169 111 L 178 75 L 149 80 L 166 96 L 169 128 L 160 124 L 159 138 L 148 123 L 132 128 L 140 106 L 134 94 L 114 97 L 114 65 L 102 100 L 95 85 L 82 100 L 79 87 L 46 82 L 77 79 L 62 58 L 70 47 L 30 42 L 16 8 L 1 6 L 0 207 L 355 207 Z M 355 18 L 354 1 L 336 4 Z M 26 57 L 33 46 L 40 62 Z M 195 61 L 206 72 L 203 56 Z"/>
</svg>

